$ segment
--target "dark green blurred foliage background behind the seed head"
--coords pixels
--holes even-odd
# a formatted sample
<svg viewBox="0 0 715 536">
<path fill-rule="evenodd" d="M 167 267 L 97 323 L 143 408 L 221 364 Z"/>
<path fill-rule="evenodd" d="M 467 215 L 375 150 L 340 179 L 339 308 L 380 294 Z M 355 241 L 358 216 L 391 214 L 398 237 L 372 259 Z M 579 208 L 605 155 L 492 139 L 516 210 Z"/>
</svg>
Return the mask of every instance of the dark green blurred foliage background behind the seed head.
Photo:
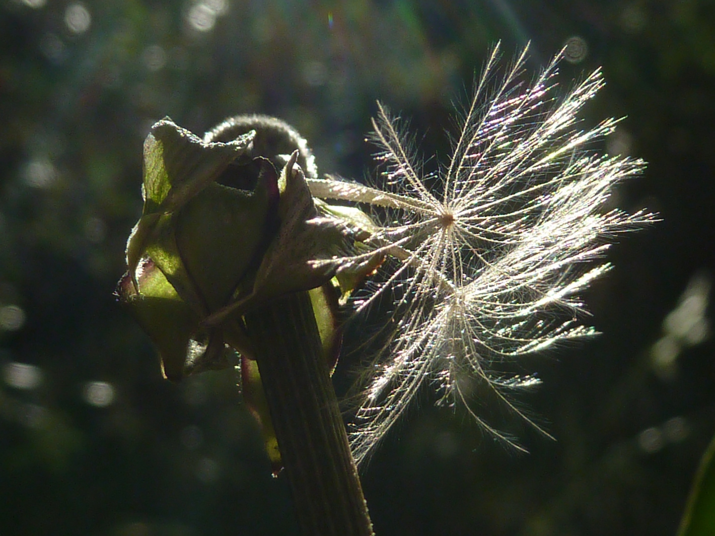
<svg viewBox="0 0 715 536">
<path fill-rule="evenodd" d="M 538 69 L 573 36 L 587 54 L 562 83 L 598 65 L 608 81 L 584 120 L 627 114 L 605 147 L 649 162 L 614 203 L 664 221 L 609 253 L 586 297 L 603 336 L 524 365 L 558 442 L 506 416 L 531 450 L 514 455 L 425 397 L 363 487 L 380 536 L 676 532 L 715 431 L 714 4 L 0 0 L 0 35 L 1 534 L 295 532 L 235 375 L 165 382 L 112 296 L 154 121 L 275 115 L 320 172 L 360 179 L 381 99 L 427 131 L 430 167 L 490 44 L 531 39 Z M 347 348 L 376 329 L 352 326 Z"/>
</svg>

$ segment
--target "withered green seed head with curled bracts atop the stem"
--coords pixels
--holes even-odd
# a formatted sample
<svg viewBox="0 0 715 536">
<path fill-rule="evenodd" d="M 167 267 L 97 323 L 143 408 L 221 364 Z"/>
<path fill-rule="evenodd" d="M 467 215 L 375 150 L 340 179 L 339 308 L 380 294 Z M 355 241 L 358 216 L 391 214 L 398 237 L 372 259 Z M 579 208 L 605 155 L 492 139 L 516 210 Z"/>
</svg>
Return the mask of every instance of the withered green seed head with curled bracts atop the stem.
<svg viewBox="0 0 715 536">
<path fill-rule="evenodd" d="M 346 268 L 339 260 L 365 238 L 364 218 L 335 216 L 357 209 L 332 214 L 322 202 L 319 214 L 299 162 L 315 178 L 305 140 L 278 119 L 230 119 L 203 140 L 170 119 L 154 124 L 144 142 L 144 209 L 117 288 L 156 345 L 164 377 L 230 367 L 240 353 L 245 400 L 275 471 L 280 453 L 243 315 L 310 291 L 332 370 L 338 297 L 367 273 L 363 264 Z"/>
</svg>

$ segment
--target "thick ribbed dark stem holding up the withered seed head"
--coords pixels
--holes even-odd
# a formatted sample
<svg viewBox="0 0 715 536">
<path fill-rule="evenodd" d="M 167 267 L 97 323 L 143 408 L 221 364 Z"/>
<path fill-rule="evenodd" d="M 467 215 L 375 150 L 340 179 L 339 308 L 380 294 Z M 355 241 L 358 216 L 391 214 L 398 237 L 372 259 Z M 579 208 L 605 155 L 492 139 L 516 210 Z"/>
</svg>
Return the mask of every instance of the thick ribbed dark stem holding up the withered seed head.
<svg viewBox="0 0 715 536">
<path fill-rule="evenodd" d="M 307 292 L 245 315 L 305 536 L 373 536 Z"/>
</svg>

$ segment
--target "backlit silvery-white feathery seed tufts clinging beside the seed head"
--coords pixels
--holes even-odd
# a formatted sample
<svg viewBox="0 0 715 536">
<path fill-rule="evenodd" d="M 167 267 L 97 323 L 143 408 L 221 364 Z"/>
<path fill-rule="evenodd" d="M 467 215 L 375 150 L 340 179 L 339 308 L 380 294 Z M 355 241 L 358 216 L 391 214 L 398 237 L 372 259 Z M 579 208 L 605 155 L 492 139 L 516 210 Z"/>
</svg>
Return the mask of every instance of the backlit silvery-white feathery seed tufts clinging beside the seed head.
<svg viewBox="0 0 715 536">
<path fill-rule="evenodd" d="M 400 299 L 388 322 L 395 331 L 363 383 L 350 435 L 358 462 L 428 382 L 441 389 L 443 402 L 463 403 L 490 434 L 521 449 L 478 415 L 465 380 L 483 382 L 533 425 L 509 391 L 538 380 L 503 377 L 493 364 L 593 335 L 578 324 L 584 311 L 577 294 L 611 265 L 588 264 L 603 257 L 615 232 L 654 221 L 644 211 L 603 211 L 613 187 L 645 163 L 588 150 L 618 121 L 577 127 L 578 111 L 603 87 L 601 70 L 558 99 L 563 51 L 531 86 L 521 81 L 526 54 L 499 78 L 495 47 L 438 181 L 422 174 L 399 121 L 379 103 L 373 141 L 385 166 L 384 189 L 330 177 L 310 181 L 315 197 L 388 212 L 362 257 L 390 255 L 392 271 L 356 304 L 362 311 L 391 293 Z"/>
</svg>

